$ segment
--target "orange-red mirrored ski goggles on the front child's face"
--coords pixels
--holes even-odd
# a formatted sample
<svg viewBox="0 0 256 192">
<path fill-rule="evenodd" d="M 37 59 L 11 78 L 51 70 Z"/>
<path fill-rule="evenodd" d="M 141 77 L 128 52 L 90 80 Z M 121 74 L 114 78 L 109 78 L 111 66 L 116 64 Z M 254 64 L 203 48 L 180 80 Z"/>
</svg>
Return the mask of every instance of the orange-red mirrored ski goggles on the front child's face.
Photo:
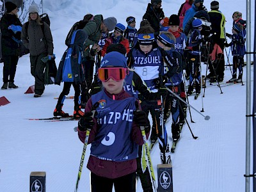
<svg viewBox="0 0 256 192">
<path fill-rule="evenodd" d="M 99 68 L 98 69 L 98 77 L 100 81 L 106 82 L 110 78 L 115 81 L 120 81 L 125 78 L 125 76 L 129 74 L 128 68 L 124 67 L 108 67 L 108 68 Z"/>
</svg>

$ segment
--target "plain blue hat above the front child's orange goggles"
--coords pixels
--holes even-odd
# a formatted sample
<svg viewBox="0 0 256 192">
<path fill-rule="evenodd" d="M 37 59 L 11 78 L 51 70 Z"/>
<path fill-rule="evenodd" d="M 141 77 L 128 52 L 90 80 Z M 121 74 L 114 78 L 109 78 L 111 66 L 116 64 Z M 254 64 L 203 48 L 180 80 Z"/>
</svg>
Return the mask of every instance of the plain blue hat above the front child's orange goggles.
<svg viewBox="0 0 256 192">
<path fill-rule="evenodd" d="M 113 67 L 124 67 L 127 68 L 127 60 L 124 56 L 124 54 L 112 51 L 107 53 L 104 58 L 100 62 L 100 68 L 101 67 L 107 67 L 107 66 L 113 66 Z"/>
</svg>

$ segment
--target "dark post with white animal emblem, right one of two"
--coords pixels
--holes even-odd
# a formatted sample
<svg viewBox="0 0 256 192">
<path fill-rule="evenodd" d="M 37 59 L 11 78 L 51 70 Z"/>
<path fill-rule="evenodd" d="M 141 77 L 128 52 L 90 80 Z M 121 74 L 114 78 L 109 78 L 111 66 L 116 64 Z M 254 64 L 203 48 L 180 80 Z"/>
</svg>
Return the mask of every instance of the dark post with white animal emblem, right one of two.
<svg viewBox="0 0 256 192">
<path fill-rule="evenodd" d="M 157 164 L 157 192 L 172 192 L 172 164 Z"/>
</svg>

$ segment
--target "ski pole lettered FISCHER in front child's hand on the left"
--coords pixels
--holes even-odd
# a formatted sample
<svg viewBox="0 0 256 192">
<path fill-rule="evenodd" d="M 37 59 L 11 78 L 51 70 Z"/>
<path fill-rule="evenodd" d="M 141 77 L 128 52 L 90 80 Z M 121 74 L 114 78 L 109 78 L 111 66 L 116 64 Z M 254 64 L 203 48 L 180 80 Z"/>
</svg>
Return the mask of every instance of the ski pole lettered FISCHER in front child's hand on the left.
<svg viewBox="0 0 256 192">
<path fill-rule="evenodd" d="M 99 106 L 99 102 L 95 102 L 95 104 L 92 107 L 92 111 L 91 111 L 92 112 L 92 118 L 94 118 L 94 115 L 95 115 L 95 112 L 96 112 L 96 108 L 98 106 Z M 80 181 L 80 178 L 81 178 L 81 173 L 82 173 L 82 170 L 83 170 L 84 156 L 85 156 L 85 152 L 86 152 L 86 147 L 88 145 L 88 139 L 89 139 L 89 136 L 90 136 L 90 131 L 91 131 L 91 129 L 87 129 L 86 130 L 86 136 L 85 136 L 85 139 L 84 139 L 83 152 L 82 152 L 81 161 L 80 161 L 80 165 L 79 165 L 79 170 L 78 170 L 78 174 L 77 174 L 75 192 L 77 192 L 77 190 L 78 190 L 78 185 L 79 185 L 79 181 Z"/>
</svg>

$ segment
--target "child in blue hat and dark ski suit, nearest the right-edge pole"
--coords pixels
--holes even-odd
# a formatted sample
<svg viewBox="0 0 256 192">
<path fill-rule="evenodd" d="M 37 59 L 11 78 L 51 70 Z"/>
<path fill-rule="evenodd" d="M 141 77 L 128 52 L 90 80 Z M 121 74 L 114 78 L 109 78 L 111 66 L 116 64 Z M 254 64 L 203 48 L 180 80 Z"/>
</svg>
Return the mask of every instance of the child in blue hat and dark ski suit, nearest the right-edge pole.
<svg viewBox="0 0 256 192">
<path fill-rule="evenodd" d="M 233 35 L 231 36 L 232 41 L 230 44 L 226 44 L 226 47 L 231 46 L 232 56 L 233 56 L 233 74 L 232 78 L 227 83 L 241 83 L 243 77 L 243 63 L 245 54 L 243 26 L 240 24 L 234 24 L 232 28 Z M 237 68 L 239 70 L 239 75 L 237 78 Z"/>
</svg>

